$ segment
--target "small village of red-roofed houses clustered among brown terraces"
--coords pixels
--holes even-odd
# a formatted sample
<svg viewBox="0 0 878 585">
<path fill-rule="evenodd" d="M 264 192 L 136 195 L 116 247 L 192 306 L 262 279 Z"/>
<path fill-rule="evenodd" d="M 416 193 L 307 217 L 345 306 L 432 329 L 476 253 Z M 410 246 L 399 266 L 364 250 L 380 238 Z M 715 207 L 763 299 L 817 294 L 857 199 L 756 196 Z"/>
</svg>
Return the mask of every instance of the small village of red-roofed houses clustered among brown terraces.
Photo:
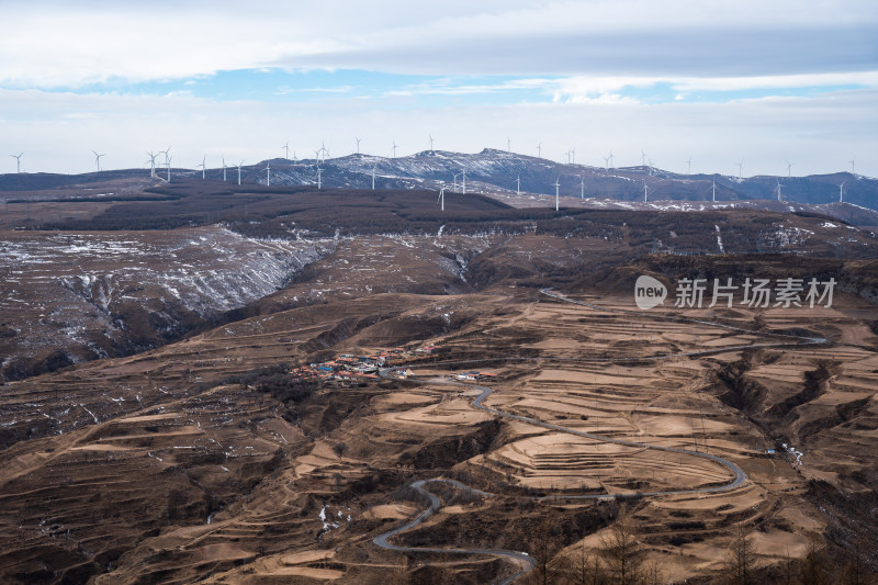
<svg viewBox="0 0 878 585">
<path fill-rule="evenodd" d="M 335 359 L 293 368 L 290 374 L 296 380 L 333 382 L 341 385 L 368 383 L 379 378 L 407 379 L 415 375 L 412 362 L 426 361 L 440 349 L 439 346 L 421 346 L 413 349 L 395 347 L 380 349 L 369 356 L 339 353 Z M 495 378 L 488 372 L 460 372 L 453 374 L 459 381 L 479 381 Z"/>
</svg>

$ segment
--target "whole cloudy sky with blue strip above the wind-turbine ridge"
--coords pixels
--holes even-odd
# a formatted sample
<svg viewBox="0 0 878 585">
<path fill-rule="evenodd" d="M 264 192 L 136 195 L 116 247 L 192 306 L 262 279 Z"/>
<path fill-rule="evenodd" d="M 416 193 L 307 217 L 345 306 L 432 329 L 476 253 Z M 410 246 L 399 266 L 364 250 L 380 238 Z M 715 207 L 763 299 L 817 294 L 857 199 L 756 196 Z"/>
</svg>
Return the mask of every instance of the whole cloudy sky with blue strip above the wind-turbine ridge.
<svg viewBox="0 0 878 585">
<path fill-rule="evenodd" d="M 878 176 L 875 0 L 0 0 L 0 173 L 510 148 Z M 852 164 L 853 161 L 853 164 Z M 739 167 L 739 164 L 741 165 Z"/>
</svg>

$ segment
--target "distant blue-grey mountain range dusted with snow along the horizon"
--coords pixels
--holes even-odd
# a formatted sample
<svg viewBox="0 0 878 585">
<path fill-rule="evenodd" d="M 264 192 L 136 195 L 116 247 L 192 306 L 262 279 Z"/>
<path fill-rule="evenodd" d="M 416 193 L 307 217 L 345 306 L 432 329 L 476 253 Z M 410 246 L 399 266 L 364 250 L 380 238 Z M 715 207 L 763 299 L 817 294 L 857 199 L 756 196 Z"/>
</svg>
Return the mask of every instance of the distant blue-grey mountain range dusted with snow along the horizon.
<svg viewBox="0 0 878 585">
<path fill-rule="evenodd" d="M 555 181 L 561 196 L 621 202 L 643 202 L 644 185 L 649 201 L 696 201 L 753 203 L 764 201 L 768 209 L 777 205 L 778 184 L 781 205 L 829 205 L 838 202 L 840 184 L 844 183 L 844 202 L 878 211 L 878 180 L 837 172 L 809 177 L 748 178 L 725 175 L 680 175 L 653 167 L 599 168 L 587 165 L 564 165 L 544 158 L 486 148 L 476 154 L 425 150 L 399 158 L 370 155 L 348 155 L 317 161 L 316 159 L 286 160 L 275 158 L 241 168 L 241 181 L 266 184 L 271 168 L 272 185 L 317 184 L 317 169 L 323 187 L 334 189 L 436 189 L 442 187 L 463 191 L 464 172 L 466 192 L 493 196 L 518 196 L 527 204 L 530 198 L 544 205 L 539 195 L 554 195 Z M 161 171 L 164 176 L 165 171 Z M 120 170 L 68 175 L 3 175 L 0 191 L 42 191 L 61 187 L 81 185 L 122 178 L 148 178 L 146 170 Z M 200 178 L 201 171 L 171 169 L 175 177 Z M 222 169 L 209 169 L 207 178 L 222 180 Z M 237 181 L 237 169 L 227 169 L 227 179 Z M 157 179 L 160 181 L 164 179 Z M 520 181 L 520 183 L 519 183 Z M 583 187 L 584 184 L 584 187 Z M 584 193 L 583 193 L 584 191 Z M 534 195 L 537 198 L 534 198 Z M 7 198 L 9 199 L 9 198 Z M 762 205 L 758 203 L 759 206 Z M 786 204 L 786 205 L 784 205 Z M 830 207 L 832 209 L 832 207 Z M 796 210 L 787 210 L 796 211 Z M 798 210 L 802 211 L 802 210 Z M 870 224 L 875 225 L 875 224 Z"/>
</svg>

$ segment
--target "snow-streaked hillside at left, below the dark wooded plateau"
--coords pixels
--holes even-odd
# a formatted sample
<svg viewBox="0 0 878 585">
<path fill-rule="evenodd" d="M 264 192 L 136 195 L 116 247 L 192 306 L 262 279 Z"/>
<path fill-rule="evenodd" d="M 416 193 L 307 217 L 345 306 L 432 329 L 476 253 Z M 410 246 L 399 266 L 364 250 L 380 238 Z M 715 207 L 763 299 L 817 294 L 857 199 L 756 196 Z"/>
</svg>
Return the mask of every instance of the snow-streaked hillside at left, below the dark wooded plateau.
<svg viewBox="0 0 878 585">
<path fill-rule="evenodd" d="M 277 291 L 334 247 L 218 226 L 9 233 L 0 241 L 0 369 L 56 349 L 78 361 L 154 346 Z"/>
</svg>

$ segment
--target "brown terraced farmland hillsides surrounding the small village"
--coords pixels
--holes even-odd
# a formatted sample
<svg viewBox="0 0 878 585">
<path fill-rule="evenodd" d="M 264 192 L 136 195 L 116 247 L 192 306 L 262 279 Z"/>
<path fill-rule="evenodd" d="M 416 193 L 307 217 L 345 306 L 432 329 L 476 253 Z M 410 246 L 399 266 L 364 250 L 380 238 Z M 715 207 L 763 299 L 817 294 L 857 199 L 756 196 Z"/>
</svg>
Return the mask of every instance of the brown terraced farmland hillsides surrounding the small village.
<svg viewBox="0 0 878 585">
<path fill-rule="evenodd" d="M 585 306 L 522 284 L 582 266 L 587 250 L 574 239 L 406 238 L 340 239 L 238 320 L 0 386 L 0 577 L 514 576 L 520 562 L 487 552 L 373 543 L 430 505 L 406 486 L 438 477 L 492 496 L 428 482 L 441 506 L 391 543 L 595 558 L 624 511 L 641 562 L 666 581 L 709 581 L 738 527 L 753 530 L 769 569 L 803 559 L 810 537 L 841 547 L 838 535 L 854 533 L 842 522 L 863 516 L 844 505 L 868 505 L 857 497 L 878 442 L 878 337 L 864 299 L 621 313 L 632 301 L 611 286 L 569 284 L 570 299 L 595 305 Z M 498 241 L 506 254 L 491 272 Z M 553 263 L 528 257 L 538 248 L 558 250 Z M 798 346 L 790 335 L 829 342 Z M 414 380 L 303 387 L 290 374 L 296 362 L 397 345 L 441 351 L 409 364 Z M 485 407 L 522 418 L 477 408 L 480 387 L 451 383 L 470 370 L 495 374 L 477 383 L 492 390 Z M 735 479 L 700 454 L 746 481 L 694 492 Z M 672 493 L 646 495 L 656 492 Z"/>
</svg>

